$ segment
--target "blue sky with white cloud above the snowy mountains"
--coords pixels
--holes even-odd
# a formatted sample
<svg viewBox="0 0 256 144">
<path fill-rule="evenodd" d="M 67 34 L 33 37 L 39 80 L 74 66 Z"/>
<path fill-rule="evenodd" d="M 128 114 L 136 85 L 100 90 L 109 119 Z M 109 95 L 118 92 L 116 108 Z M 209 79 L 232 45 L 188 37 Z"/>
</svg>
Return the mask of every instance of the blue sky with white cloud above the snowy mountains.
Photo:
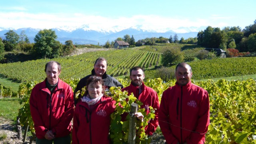
<svg viewBox="0 0 256 144">
<path fill-rule="evenodd" d="M 157 32 L 201 26 L 243 29 L 256 20 L 255 8 L 256 0 L 4 0 L 0 27 L 122 30 L 140 26 Z"/>
</svg>

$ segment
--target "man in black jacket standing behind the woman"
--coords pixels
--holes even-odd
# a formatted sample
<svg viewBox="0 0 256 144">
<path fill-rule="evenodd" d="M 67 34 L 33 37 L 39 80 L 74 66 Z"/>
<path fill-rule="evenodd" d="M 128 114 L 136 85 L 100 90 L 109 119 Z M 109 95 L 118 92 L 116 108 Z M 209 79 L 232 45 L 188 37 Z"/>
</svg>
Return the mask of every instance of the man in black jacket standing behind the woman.
<svg viewBox="0 0 256 144">
<path fill-rule="evenodd" d="M 75 105 L 77 103 L 77 100 L 75 99 L 75 94 L 77 91 L 82 91 L 82 88 L 86 86 L 86 80 L 92 76 L 92 75 L 96 75 L 98 77 L 101 77 L 104 81 L 104 85 L 106 87 L 105 91 L 108 91 L 110 87 L 120 87 L 120 88 L 124 88 L 123 85 L 117 81 L 114 77 L 111 77 L 110 75 L 106 74 L 106 69 L 107 69 L 107 60 L 104 59 L 103 57 L 99 57 L 98 59 L 96 59 L 95 63 L 94 63 L 94 69 L 92 69 L 92 74 L 91 75 L 87 75 L 86 77 L 80 79 L 80 81 L 78 82 L 76 89 L 74 90 L 74 101 L 75 101 Z M 80 94 L 78 97 L 82 97 Z"/>
</svg>

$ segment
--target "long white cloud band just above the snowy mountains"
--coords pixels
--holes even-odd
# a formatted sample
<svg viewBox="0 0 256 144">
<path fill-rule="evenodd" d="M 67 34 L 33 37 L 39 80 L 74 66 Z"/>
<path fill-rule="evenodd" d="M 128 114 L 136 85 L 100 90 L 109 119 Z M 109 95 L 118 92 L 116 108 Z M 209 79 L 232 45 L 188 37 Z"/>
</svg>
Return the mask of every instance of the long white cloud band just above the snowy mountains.
<svg viewBox="0 0 256 144">
<path fill-rule="evenodd" d="M 136 15 L 132 17 L 106 18 L 102 16 L 90 16 L 80 13 L 30 14 L 27 12 L 0 12 L 0 27 L 12 27 L 15 29 L 29 27 L 40 29 L 66 28 L 66 30 L 74 30 L 80 26 L 88 25 L 91 30 L 120 31 L 139 25 L 142 30 L 166 32 L 166 30 L 178 30 L 180 27 L 212 26 L 212 22 L 217 21 L 220 18 L 221 17 L 214 15 L 210 17 L 209 20 L 190 20 L 189 18 L 170 18 L 157 15 Z M 227 26 L 227 24 L 224 22 L 216 25 Z"/>
</svg>

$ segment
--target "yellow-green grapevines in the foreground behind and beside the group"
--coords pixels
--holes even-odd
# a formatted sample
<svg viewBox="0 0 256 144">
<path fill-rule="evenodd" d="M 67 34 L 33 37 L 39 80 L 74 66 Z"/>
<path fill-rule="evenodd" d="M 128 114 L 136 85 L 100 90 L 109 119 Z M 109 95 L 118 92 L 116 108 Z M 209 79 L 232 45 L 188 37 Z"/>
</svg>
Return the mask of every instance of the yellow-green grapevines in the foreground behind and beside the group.
<svg viewBox="0 0 256 144">
<path fill-rule="evenodd" d="M 124 87 L 128 79 L 118 79 Z M 71 86 L 78 80 L 65 79 Z M 36 82 L 37 83 L 37 82 Z M 33 132 L 33 123 L 29 112 L 28 99 L 34 82 L 20 85 L 19 95 L 25 105 L 19 110 L 20 122 L 29 124 Z M 193 82 L 194 83 L 194 82 Z M 145 85 L 158 93 L 159 101 L 164 90 L 175 84 L 175 81 L 164 83 L 161 79 L 148 79 Z M 195 83 L 206 89 L 210 98 L 210 125 L 206 134 L 207 144 L 255 144 L 256 143 L 256 81 L 226 81 L 214 83 L 212 80 Z M 112 92 L 124 95 L 120 90 Z M 124 98 L 125 99 L 125 98 Z M 118 117 L 112 116 L 114 118 Z M 115 120 L 115 119 L 114 119 Z M 127 137 L 126 137 L 127 138 Z"/>
</svg>

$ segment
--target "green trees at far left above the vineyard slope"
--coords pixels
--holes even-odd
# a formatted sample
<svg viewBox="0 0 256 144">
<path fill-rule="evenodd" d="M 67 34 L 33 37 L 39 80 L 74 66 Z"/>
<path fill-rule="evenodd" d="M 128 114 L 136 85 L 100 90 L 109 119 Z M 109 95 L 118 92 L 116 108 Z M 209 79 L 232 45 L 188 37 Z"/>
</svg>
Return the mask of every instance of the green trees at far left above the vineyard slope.
<svg viewBox="0 0 256 144">
<path fill-rule="evenodd" d="M 4 35 L 6 36 L 4 40 L 0 38 L 0 60 L 4 59 L 4 51 L 23 51 L 34 55 L 35 59 L 41 59 L 65 56 L 75 49 L 72 40 L 65 41 L 64 45 L 57 41 L 57 35 L 51 29 L 40 30 L 34 38 L 35 43 L 30 43 L 25 31 L 18 35 L 13 30 L 9 30 Z"/>
</svg>

